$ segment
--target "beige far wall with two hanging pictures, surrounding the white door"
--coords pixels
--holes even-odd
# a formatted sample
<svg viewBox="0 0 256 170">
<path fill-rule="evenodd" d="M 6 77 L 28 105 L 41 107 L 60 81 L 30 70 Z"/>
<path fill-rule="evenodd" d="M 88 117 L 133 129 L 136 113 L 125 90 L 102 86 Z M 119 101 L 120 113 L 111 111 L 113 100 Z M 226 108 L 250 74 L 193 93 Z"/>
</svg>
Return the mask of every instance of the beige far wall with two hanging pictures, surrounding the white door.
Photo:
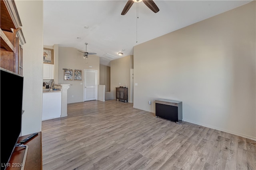
<svg viewBox="0 0 256 170">
<path fill-rule="evenodd" d="M 76 48 L 59 46 L 58 62 L 58 83 L 70 84 L 68 89 L 68 103 L 84 101 L 84 69 L 98 71 L 98 84 L 100 82 L 100 58 L 96 55 L 89 55 L 88 59 L 83 58 L 83 54 Z M 63 68 L 82 70 L 82 81 L 64 80 Z M 82 84 L 81 84 L 82 83 Z M 72 97 L 73 96 L 73 97 Z"/>
</svg>

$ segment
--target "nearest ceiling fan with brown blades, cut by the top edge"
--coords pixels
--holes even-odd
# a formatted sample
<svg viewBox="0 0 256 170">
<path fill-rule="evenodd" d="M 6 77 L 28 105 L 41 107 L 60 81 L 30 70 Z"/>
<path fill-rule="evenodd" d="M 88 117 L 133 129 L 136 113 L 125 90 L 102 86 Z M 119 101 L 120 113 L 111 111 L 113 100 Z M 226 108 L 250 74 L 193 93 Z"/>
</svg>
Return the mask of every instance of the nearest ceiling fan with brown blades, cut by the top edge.
<svg viewBox="0 0 256 170">
<path fill-rule="evenodd" d="M 144 4 L 146 6 L 148 6 L 148 8 L 150 8 L 150 10 L 152 10 L 154 13 L 159 11 L 159 8 L 156 6 L 156 4 L 153 0 L 128 0 L 126 5 L 124 6 L 124 9 L 123 9 L 121 15 L 125 15 L 128 12 L 128 10 L 131 8 L 131 6 L 134 2 L 141 2 L 141 1 L 143 1 Z"/>
</svg>

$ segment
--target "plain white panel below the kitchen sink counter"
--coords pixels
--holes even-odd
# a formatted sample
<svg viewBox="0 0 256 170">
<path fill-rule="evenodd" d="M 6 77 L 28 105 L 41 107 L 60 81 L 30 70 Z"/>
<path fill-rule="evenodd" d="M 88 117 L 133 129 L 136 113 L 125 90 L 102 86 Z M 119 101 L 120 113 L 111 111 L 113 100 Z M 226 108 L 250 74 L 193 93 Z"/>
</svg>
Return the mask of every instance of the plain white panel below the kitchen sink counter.
<svg viewBox="0 0 256 170">
<path fill-rule="evenodd" d="M 61 115 L 61 91 L 43 92 L 42 120 L 60 118 Z"/>
</svg>

